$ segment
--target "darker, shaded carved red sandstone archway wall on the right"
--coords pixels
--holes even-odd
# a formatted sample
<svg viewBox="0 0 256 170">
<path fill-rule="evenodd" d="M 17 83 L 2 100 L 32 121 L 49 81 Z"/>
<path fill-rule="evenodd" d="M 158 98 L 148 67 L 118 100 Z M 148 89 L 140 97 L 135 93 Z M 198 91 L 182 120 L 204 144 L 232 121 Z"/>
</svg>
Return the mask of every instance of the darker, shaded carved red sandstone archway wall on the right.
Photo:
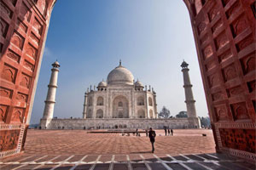
<svg viewBox="0 0 256 170">
<path fill-rule="evenodd" d="M 216 148 L 256 161 L 256 3 L 183 1 L 189 8 Z"/>
</svg>

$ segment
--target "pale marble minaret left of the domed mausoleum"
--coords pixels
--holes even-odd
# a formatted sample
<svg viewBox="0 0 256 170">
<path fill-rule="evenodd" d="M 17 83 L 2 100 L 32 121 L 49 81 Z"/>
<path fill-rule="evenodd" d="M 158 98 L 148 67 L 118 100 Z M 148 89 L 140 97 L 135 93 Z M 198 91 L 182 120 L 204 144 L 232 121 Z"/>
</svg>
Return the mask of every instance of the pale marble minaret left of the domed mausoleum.
<svg viewBox="0 0 256 170">
<path fill-rule="evenodd" d="M 55 95 L 56 95 L 56 89 L 57 89 L 57 81 L 58 81 L 58 73 L 59 73 L 59 67 L 61 65 L 58 61 L 55 61 L 55 63 L 52 64 L 51 69 L 51 76 L 49 80 L 48 85 L 48 93 L 46 100 L 44 101 L 44 116 L 43 120 L 46 120 L 46 122 L 42 122 L 41 120 L 41 126 L 47 127 L 50 120 L 53 118 L 54 109 L 55 109 Z M 43 123 L 43 124 L 42 124 Z"/>
</svg>

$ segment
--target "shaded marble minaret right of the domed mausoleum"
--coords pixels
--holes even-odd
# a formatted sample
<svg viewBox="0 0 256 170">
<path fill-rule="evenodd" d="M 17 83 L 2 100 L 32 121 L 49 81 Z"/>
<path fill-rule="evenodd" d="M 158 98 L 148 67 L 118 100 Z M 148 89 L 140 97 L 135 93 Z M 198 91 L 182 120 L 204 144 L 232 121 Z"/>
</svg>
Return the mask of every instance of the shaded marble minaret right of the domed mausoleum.
<svg viewBox="0 0 256 170">
<path fill-rule="evenodd" d="M 186 63 L 183 60 L 182 65 L 180 65 L 183 69 L 183 88 L 185 90 L 185 103 L 187 105 L 187 113 L 188 113 L 188 117 L 189 118 L 195 118 L 195 121 L 192 121 L 192 119 L 190 121 L 190 125 L 192 125 L 192 127 L 200 127 L 200 123 L 198 122 L 198 117 L 196 116 L 196 111 L 195 111 L 195 99 L 193 97 L 193 92 L 192 92 L 192 84 L 190 82 L 190 78 L 189 78 L 189 64 Z"/>
</svg>

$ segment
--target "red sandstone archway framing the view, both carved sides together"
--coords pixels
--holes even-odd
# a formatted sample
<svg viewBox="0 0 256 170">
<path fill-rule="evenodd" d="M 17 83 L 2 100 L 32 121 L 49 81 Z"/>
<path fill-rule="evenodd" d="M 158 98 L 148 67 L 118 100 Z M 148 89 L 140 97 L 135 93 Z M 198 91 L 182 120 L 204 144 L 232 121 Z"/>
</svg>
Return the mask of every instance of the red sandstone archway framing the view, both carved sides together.
<svg viewBox="0 0 256 170">
<path fill-rule="evenodd" d="M 0 20 L 0 90 L 4 93 L 0 93 L 0 111 L 4 118 L 0 122 L 0 135 L 10 140 L 4 141 L 6 147 L 0 148 L 0 156 L 8 156 L 24 147 L 55 0 L 1 2 L 4 8 Z M 247 136 L 255 139 L 256 3 L 254 0 L 183 2 L 189 10 L 216 149 L 255 161 L 255 150 L 246 150 L 230 141 L 229 136 L 242 132 L 245 134 L 242 141 Z M 32 65 L 31 71 L 25 69 L 26 60 Z M 230 70 L 236 74 L 230 75 Z M 29 85 L 20 84 L 22 79 Z M 25 101 L 17 98 L 20 93 L 26 96 Z M 17 109 L 22 110 L 26 122 L 11 122 Z"/>
</svg>

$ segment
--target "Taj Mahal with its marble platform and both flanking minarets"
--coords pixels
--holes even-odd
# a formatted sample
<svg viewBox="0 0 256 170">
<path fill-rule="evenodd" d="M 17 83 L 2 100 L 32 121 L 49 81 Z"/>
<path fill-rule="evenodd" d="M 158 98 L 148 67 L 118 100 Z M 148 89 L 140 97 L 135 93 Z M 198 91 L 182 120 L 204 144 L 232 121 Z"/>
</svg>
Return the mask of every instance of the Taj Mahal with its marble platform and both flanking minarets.
<svg viewBox="0 0 256 170">
<path fill-rule="evenodd" d="M 195 99 L 189 80 L 188 64 L 183 61 L 183 80 L 188 117 L 158 117 L 156 93 L 151 86 L 144 86 L 137 80 L 121 60 L 119 65 L 109 72 L 107 81 L 97 87 L 87 88 L 84 94 L 82 118 L 54 117 L 55 93 L 59 67 L 57 61 L 52 65 L 49 90 L 45 100 L 44 115 L 40 121 L 43 129 L 91 129 L 91 128 L 199 128 L 196 116 Z"/>
</svg>

